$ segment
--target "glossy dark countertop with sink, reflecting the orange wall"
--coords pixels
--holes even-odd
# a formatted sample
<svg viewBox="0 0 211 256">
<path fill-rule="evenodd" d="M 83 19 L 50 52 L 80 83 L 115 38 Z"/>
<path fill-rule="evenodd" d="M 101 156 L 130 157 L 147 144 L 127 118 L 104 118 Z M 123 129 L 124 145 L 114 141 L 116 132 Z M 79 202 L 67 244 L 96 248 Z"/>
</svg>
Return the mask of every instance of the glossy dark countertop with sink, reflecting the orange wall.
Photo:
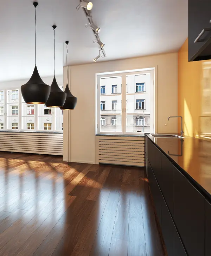
<svg viewBox="0 0 211 256">
<path fill-rule="evenodd" d="M 211 143 L 186 137 L 155 138 L 145 134 L 208 199 L 211 200 Z"/>
</svg>

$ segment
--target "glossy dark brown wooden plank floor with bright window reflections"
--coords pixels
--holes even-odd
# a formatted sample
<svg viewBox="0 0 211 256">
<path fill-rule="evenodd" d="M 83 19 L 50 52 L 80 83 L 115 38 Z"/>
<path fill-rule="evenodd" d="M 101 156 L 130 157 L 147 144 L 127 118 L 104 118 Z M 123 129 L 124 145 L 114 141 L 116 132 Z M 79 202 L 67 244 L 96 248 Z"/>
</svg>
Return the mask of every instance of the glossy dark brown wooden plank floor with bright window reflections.
<svg viewBox="0 0 211 256">
<path fill-rule="evenodd" d="M 0 256 L 163 256 L 140 168 L 0 152 Z"/>
</svg>

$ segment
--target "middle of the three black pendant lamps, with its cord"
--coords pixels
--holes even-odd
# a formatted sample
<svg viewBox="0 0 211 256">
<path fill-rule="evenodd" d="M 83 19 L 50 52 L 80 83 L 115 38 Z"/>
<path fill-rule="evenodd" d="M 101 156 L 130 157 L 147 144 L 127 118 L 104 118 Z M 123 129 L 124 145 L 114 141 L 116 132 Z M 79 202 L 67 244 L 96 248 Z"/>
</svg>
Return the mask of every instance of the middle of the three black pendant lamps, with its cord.
<svg viewBox="0 0 211 256">
<path fill-rule="evenodd" d="M 49 108 L 58 108 L 58 107 L 63 107 L 64 102 L 66 100 L 66 93 L 62 91 L 57 82 L 56 82 L 56 77 L 55 77 L 55 29 L 56 25 L 52 26 L 53 31 L 54 31 L 54 59 L 53 59 L 53 70 L 54 70 L 54 77 L 53 77 L 53 82 L 51 84 L 51 92 L 49 95 L 49 98 L 45 102 L 45 106 Z"/>
</svg>

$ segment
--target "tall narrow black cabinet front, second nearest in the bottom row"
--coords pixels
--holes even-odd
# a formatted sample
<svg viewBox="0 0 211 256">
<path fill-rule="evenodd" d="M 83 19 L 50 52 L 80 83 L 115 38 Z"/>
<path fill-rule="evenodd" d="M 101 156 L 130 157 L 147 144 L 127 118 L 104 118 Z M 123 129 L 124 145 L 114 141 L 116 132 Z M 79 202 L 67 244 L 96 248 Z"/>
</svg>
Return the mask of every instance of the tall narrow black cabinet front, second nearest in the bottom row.
<svg viewBox="0 0 211 256">
<path fill-rule="evenodd" d="M 163 198 L 161 202 L 161 230 L 168 256 L 174 256 L 174 222 Z"/>
</svg>

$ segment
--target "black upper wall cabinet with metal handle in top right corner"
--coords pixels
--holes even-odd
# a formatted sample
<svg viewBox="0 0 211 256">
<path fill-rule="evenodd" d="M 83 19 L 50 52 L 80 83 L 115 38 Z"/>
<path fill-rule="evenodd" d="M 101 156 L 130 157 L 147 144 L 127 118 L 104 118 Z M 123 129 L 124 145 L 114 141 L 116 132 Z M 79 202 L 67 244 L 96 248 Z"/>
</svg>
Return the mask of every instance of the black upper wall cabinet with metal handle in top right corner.
<svg viewBox="0 0 211 256">
<path fill-rule="evenodd" d="M 189 61 L 211 59 L 210 10 L 211 1 L 209 0 L 188 0 Z M 207 31 L 203 32 L 203 29 Z"/>
</svg>

